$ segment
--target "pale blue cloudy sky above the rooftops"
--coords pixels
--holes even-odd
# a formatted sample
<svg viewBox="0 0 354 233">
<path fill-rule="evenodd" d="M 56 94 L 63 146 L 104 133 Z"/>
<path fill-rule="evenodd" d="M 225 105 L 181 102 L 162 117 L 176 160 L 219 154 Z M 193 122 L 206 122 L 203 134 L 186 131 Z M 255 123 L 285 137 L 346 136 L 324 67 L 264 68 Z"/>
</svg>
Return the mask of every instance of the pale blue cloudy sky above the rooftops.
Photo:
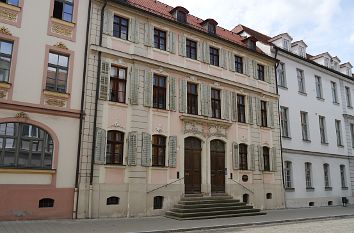
<svg viewBox="0 0 354 233">
<path fill-rule="evenodd" d="M 329 52 L 354 65 L 353 0 L 160 1 L 183 6 L 201 19 L 213 18 L 229 30 L 243 24 L 270 36 L 287 32 L 293 41 L 303 40 L 309 54 Z"/>
</svg>

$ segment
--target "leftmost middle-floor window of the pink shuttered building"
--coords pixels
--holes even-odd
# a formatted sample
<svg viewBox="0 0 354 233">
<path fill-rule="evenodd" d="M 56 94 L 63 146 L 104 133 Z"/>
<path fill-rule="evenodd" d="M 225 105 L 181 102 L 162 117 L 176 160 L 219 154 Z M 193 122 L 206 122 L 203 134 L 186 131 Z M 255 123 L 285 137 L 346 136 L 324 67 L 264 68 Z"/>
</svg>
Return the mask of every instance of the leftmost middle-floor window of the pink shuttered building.
<svg viewBox="0 0 354 233">
<path fill-rule="evenodd" d="M 125 103 L 127 69 L 112 66 L 109 90 L 109 101 Z"/>
</svg>

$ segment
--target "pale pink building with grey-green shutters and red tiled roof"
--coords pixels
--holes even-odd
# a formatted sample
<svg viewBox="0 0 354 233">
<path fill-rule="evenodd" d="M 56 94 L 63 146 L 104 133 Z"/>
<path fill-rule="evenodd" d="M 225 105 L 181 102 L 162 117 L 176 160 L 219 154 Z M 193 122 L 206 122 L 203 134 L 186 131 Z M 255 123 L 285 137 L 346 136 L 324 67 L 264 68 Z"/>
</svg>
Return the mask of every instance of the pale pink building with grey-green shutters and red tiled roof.
<svg viewBox="0 0 354 233">
<path fill-rule="evenodd" d="M 78 217 L 159 215 L 185 195 L 284 207 L 276 59 L 183 7 L 90 8 Z"/>
</svg>

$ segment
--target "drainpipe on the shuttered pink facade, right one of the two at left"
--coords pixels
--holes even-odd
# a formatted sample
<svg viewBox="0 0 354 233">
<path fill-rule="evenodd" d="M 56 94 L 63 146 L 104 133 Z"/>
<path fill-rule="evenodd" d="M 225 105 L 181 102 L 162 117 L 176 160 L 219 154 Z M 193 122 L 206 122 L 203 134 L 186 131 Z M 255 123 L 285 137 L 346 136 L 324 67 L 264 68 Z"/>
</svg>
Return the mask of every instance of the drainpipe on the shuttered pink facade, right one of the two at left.
<svg viewBox="0 0 354 233">
<path fill-rule="evenodd" d="M 101 22 L 100 22 L 100 40 L 99 46 L 102 47 L 102 33 L 103 33 L 103 24 L 104 24 L 104 11 L 106 9 L 108 0 L 104 1 L 103 7 L 101 9 Z M 101 74 L 101 56 L 102 53 L 98 52 L 98 68 L 97 68 L 97 83 L 96 83 L 96 95 L 95 95 L 95 113 L 93 119 L 93 140 L 92 140 L 92 150 L 91 150 L 91 172 L 90 172 L 90 186 L 89 186 L 89 218 L 92 218 L 92 202 L 93 202 L 93 170 L 95 164 L 96 156 L 96 132 L 97 132 L 97 107 L 98 107 L 98 95 L 100 91 L 100 74 Z"/>
</svg>

